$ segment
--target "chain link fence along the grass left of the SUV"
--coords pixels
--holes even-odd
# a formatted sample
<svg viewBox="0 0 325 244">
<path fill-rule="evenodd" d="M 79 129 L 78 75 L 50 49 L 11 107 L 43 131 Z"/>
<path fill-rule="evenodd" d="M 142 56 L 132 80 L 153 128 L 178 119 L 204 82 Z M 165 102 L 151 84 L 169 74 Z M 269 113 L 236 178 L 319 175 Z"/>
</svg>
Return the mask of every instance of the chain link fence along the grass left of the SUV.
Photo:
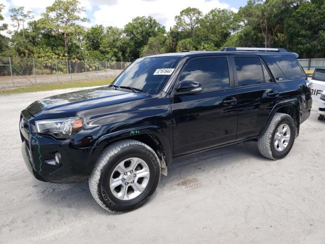
<svg viewBox="0 0 325 244">
<path fill-rule="evenodd" d="M 129 62 L 0 57 L 0 89 L 116 77 Z"/>
</svg>

